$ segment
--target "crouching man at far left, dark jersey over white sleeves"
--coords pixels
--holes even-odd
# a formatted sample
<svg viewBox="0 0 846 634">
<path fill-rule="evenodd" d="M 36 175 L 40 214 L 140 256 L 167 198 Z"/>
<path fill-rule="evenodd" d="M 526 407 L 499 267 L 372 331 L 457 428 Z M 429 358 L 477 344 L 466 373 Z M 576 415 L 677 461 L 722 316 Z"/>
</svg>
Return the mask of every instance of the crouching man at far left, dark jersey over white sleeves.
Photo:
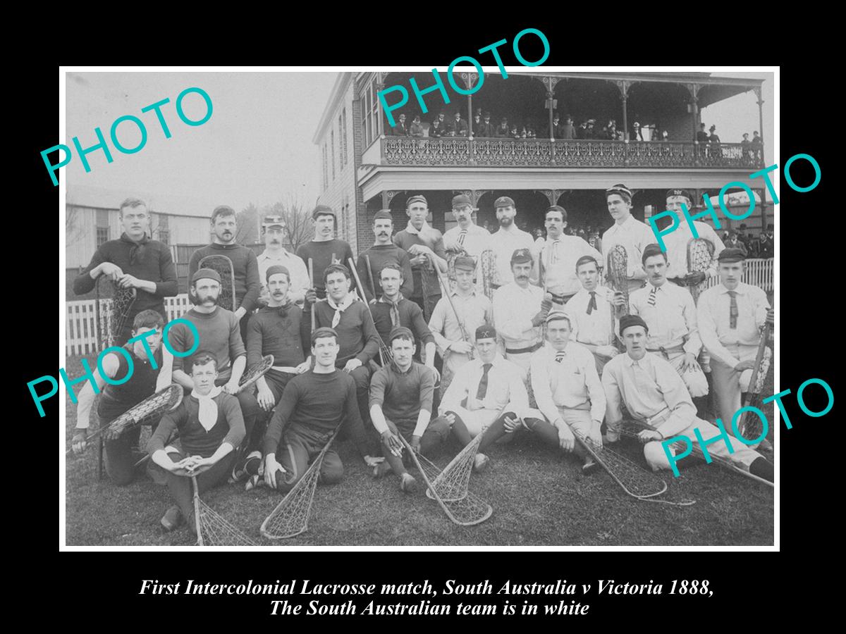
<svg viewBox="0 0 846 634">
<path fill-rule="evenodd" d="M 143 310 L 135 315 L 132 322 L 131 343 L 124 344 L 124 350 L 132 358 L 132 371 L 129 372 L 129 358 L 120 353 L 108 353 L 102 358 L 102 374 L 94 370 L 94 380 L 101 392 L 97 404 L 97 417 L 100 424 L 106 426 L 130 407 L 151 396 L 154 392 L 170 385 L 173 355 L 162 347 L 162 315 L 155 310 Z M 155 334 L 144 336 L 149 331 Z M 149 348 L 146 348 L 149 347 Z M 149 350 L 149 353 L 147 352 Z M 107 384 L 108 379 L 122 380 L 129 375 L 129 380 L 120 385 Z M 104 387 L 105 386 L 105 387 Z M 72 441 L 74 454 L 85 451 L 88 440 L 88 428 L 91 419 L 91 406 L 95 393 L 91 383 L 85 385 L 77 397 L 76 432 Z M 106 473 L 117 486 L 125 486 L 135 478 L 135 457 L 133 450 L 138 448 L 140 425 L 128 429 L 115 440 L 106 440 Z"/>
</svg>

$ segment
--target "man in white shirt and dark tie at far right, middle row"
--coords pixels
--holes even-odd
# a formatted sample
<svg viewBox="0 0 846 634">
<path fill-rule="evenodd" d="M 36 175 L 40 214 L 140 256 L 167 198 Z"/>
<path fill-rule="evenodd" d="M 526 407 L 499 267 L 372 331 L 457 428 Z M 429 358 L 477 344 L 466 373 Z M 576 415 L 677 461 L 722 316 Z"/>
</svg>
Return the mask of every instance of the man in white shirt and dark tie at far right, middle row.
<svg viewBox="0 0 846 634">
<path fill-rule="evenodd" d="M 741 406 L 741 392 L 749 390 L 761 327 L 772 324 L 773 310 L 766 292 L 740 281 L 745 270 L 740 249 L 720 254 L 720 283 L 702 292 L 696 317 L 700 335 L 711 354 L 711 375 L 717 413 L 728 426 Z"/>
</svg>

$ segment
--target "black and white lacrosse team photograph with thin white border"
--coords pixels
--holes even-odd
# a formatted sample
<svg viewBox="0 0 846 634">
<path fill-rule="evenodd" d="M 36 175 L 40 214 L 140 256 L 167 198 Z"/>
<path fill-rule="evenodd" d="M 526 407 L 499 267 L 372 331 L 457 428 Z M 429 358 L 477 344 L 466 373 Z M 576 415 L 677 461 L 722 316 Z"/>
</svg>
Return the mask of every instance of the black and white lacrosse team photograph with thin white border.
<svg viewBox="0 0 846 634">
<path fill-rule="evenodd" d="M 777 549 L 778 68 L 520 61 L 63 67 L 64 547 Z"/>
</svg>

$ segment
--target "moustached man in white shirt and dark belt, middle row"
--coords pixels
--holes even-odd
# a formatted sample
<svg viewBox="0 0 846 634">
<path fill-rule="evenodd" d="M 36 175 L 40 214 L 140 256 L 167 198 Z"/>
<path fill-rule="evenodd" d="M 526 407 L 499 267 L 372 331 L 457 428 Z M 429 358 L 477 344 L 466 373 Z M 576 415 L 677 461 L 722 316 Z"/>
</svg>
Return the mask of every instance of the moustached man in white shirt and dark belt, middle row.
<svg viewBox="0 0 846 634">
<path fill-rule="evenodd" d="M 493 294 L 493 323 L 505 347 L 505 358 L 529 371 L 531 353 L 543 345 L 542 325 L 552 308 L 552 298 L 529 283 L 532 257 L 529 249 L 511 256 L 514 281 Z"/>
</svg>

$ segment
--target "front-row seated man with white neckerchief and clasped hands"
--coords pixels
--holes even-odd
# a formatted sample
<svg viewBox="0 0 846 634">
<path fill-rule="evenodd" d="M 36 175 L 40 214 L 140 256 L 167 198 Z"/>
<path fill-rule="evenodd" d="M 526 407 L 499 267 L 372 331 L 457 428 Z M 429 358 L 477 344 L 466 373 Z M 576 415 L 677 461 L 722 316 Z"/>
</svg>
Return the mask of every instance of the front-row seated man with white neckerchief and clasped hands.
<svg viewBox="0 0 846 634">
<path fill-rule="evenodd" d="M 176 506 L 162 517 L 166 530 L 178 527 L 184 518 L 191 533 L 196 533 L 194 491 L 190 478 L 174 472 L 210 467 L 197 476 L 200 493 L 226 482 L 232 471 L 236 451 L 244 440 L 244 418 L 237 399 L 221 387 L 215 387 L 217 360 L 211 353 L 196 353 L 186 364 L 191 369 L 194 388 L 179 407 L 162 416 L 162 422 L 147 443 L 152 462 L 167 471 L 168 489 Z M 179 431 L 182 451 L 166 446 Z"/>
</svg>

